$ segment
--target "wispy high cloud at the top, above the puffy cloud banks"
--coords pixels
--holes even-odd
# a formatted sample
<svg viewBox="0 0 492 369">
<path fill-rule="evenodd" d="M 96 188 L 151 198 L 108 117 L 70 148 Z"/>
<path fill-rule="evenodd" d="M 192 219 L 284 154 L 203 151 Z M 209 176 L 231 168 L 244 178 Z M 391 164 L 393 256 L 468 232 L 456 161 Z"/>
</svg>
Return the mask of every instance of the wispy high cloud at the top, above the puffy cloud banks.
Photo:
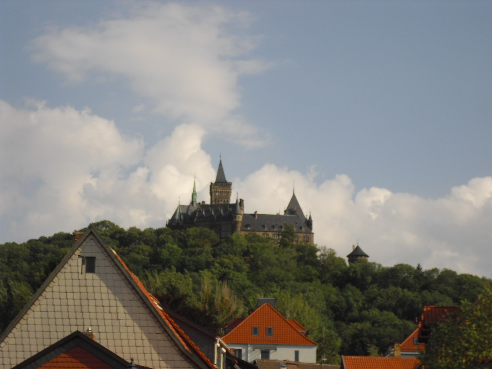
<svg viewBox="0 0 492 369">
<path fill-rule="evenodd" d="M 51 29 L 34 39 L 32 48 L 35 61 L 68 82 L 123 76 L 153 101 L 155 112 L 210 130 L 227 129 L 232 139 L 241 134 L 238 142 L 257 146 L 265 143 L 255 137 L 257 129 L 233 114 L 240 99 L 238 77 L 270 66 L 247 58 L 255 37 L 233 33 L 248 23 L 247 13 L 214 5 L 142 2 L 127 17 Z"/>
</svg>

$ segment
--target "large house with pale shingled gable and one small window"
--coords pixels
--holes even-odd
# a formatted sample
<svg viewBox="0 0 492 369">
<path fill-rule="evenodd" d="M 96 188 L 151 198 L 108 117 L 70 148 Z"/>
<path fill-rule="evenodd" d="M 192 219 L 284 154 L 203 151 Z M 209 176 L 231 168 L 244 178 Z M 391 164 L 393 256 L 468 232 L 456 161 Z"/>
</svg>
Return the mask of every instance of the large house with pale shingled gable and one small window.
<svg viewBox="0 0 492 369">
<path fill-rule="evenodd" d="M 95 351 L 87 345 L 86 351 L 102 346 L 128 365 L 217 369 L 92 226 L 78 236 L 0 335 L 0 369 L 42 356 L 63 339 L 84 339 L 77 331 L 88 332 L 98 343 Z"/>
</svg>

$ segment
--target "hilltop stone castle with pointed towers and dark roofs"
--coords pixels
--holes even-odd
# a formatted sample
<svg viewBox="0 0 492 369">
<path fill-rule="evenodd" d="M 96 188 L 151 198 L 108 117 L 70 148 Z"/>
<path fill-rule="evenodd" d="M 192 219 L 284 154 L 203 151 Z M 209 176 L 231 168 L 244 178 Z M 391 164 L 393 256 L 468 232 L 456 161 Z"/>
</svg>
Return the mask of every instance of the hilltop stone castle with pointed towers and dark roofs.
<svg viewBox="0 0 492 369">
<path fill-rule="evenodd" d="M 306 218 L 295 193 L 283 215 L 245 214 L 244 200 L 236 198 L 231 203 L 232 183 L 225 179 L 222 160 L 219 161 L 215 183 L 210 184 L 210 204 L 197 202 L 196 185 L 189 205 L 178 205 L 166 226 L 171 229 L 206 227 L 215 231 L 220 238 L 233 233 L 257 233 L 263 237 L 279 238 L 286 224 L 292 225 L 296 233 L 296 242 L 313 245 L 312 218 Z"/>
</svg>

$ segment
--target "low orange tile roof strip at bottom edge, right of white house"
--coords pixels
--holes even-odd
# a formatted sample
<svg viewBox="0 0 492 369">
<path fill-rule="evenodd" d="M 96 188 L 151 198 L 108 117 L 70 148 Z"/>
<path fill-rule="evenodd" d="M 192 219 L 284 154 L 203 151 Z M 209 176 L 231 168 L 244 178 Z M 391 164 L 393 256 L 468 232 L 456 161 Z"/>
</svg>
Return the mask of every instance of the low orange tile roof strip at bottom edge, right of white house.
<svg viewBox="0 0 492 369">
<path fill-rule="evenodd" d="M 342 356 L 342 369 L 415 369 L 420 360 L 392 356 Z"/>
</svg>

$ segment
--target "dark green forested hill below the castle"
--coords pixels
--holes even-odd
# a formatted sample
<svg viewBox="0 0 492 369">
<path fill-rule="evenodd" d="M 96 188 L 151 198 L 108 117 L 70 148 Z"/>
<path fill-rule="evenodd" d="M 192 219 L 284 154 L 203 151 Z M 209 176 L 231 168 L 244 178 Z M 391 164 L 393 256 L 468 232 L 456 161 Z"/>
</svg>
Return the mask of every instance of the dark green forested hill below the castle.
<svg viewBox="0 0 492 369">
<path fill-rule="evenodd" d="M 274 297 L 276 308 L 319 343 L 318 357 L 335 364 L 340 354 L 381 352 L 415 328 L 425 305 L 473 301 L 491 282 L 420 265 L 347 265 L 332 249 L 295 245 L 287 227 L 279 241 L 255 234 L 219 241 L 204 228 L 93 225 L 163 305 L 219 334 L 258 297 Z M 0 245 L 0 330 L 73 245 L 74 234 L 63 232 Z"/>
</svg>

